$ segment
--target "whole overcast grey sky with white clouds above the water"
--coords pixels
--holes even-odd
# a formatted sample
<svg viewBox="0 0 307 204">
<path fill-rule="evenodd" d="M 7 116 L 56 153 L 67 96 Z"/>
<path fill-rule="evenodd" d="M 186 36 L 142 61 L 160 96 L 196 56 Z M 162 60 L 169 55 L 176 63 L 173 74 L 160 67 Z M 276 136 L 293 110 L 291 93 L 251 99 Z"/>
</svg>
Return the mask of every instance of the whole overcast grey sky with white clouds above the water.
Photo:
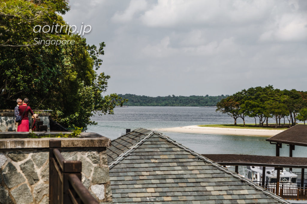
<svg viewBox="0 0 307 204">
<path fill-rule="evenodd" d="M 307 1 L 70 0 L 70 25 L 105 42 L 107 94 L 221 95 L 273 85 L 307 91 Z"/>
</svg>

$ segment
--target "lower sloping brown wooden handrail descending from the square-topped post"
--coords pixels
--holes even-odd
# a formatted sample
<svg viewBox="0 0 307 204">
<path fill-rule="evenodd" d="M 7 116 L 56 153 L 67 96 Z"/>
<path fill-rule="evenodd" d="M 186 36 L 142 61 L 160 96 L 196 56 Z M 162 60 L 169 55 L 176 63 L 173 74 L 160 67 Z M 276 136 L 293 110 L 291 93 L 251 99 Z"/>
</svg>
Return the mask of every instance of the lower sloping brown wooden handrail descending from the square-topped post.
<svg viewBox="0 0 307 204">
<path fill-rule="evenodd" d="M 99 204 L 97 200 L 90 194 L 90 192 L 84 187 L 76 174 L 69 174 L 68 180 L 76 193 L 85 204 Z"/>
</svg>

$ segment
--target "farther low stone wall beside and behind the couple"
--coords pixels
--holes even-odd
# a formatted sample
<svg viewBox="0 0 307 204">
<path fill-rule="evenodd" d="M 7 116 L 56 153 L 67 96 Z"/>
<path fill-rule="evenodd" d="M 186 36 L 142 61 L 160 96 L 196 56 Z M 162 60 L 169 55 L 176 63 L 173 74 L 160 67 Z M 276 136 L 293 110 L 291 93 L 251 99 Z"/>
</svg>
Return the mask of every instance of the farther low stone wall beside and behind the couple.
<svg viewBox="0 0 307 204">
<path fill-rule="evenodd" d="M 41 110 L 33 110 L 38 112 L 38 117 L 43 121 L 44 125 L 47 125 L 47 131 L 50 131 L 49 117 L 50 113 L 42 112 Z M 32 115 L 29 113 L 29 125 L 32 127 Z M 0 110 L 0 132 L 15 131 L 15 115 L 14 110 Z M 31 131 L 31 128 L 30 128 Z"/>
</svg>

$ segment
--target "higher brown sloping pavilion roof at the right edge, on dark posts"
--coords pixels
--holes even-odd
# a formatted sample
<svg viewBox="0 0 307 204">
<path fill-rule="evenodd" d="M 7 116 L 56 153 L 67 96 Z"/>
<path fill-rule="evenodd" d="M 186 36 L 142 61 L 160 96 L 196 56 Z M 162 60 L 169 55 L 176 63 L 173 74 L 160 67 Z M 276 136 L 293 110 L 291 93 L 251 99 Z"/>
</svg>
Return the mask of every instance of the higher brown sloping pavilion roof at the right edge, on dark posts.
<svg viewBox="0 0 307 204">
<path fill-rule="evenodd" d="M 307 147 L 307 125 L 297 124 L 266 141 Z"/>
</svg>

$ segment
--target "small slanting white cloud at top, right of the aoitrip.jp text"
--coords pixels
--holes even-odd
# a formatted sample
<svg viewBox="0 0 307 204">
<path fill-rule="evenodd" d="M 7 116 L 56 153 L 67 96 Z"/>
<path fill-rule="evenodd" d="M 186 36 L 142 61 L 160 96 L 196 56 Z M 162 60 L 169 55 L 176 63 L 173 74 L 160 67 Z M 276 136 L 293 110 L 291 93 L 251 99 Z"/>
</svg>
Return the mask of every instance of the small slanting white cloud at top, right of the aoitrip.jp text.
<svg viewBox="0 0 307 204">
<path fill-rule="evenodd" d="M 143 0 L 131 0 L 128 8 L 123 12 L 116 12 L 112 17 L 114 22 L 126 22 L 132 20 L 135 13 L 147 8 L 147 2 Z"/>
</svg>

